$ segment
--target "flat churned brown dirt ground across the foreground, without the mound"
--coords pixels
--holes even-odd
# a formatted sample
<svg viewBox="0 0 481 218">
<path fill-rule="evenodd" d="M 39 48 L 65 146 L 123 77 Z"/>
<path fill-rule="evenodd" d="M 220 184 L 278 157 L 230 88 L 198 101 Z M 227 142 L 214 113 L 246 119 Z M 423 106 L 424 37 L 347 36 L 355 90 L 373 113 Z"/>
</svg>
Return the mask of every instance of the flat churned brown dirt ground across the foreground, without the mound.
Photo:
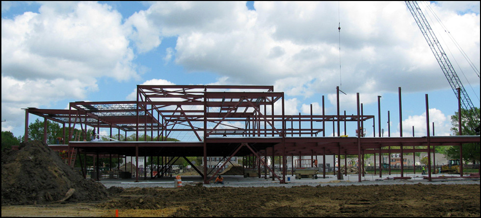
<svg viewBox="0 0 481 218">
<path fill-rule="evenodd" d="M 91 203 L 2 206 L 1 216 L 480 217 L 479 185 L 110 188 Z"/>
</svg>

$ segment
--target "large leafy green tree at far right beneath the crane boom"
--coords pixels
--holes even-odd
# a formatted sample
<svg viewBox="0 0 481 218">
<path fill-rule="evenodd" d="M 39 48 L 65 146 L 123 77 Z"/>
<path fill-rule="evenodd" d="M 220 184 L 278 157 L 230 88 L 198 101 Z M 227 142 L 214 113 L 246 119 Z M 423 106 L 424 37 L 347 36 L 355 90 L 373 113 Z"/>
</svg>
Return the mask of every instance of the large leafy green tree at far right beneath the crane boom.
<svg viewBox="0 0 481 218">
<path fill-rule="evenodd" d="M 480 120 L 468 119 L 466 114 L 480 114 L 479 108 L 473 108 L 469 111 L 461 109 L 461 132 L 463 136 L 475 136 L 477 135 L 474 126 L 479 127 Z M 471 121 L 474 120 L 474 121 Z M 455 112 L 451 116 L 451 131 L 453 135 L 459 136 L 459 121 L 458 112 Z M 446 151 L 446 156 L 450 159 L 459 159 L 459 146 L 452 146 Z M 463 161 L 479 163 L 480 162 L 480 144 L 479 143 L 469 143 L 463 144 Z"/>
</svg>

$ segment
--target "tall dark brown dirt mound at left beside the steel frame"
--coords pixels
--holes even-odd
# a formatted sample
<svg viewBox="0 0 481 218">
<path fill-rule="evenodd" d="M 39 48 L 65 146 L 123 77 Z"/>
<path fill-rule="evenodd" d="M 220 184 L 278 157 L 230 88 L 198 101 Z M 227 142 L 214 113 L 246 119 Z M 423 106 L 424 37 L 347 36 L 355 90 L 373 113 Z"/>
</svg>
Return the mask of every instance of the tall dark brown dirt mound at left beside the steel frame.
<svg viewBox="0 0 481 218">
<path fill-rule="evenodd" d="M 85 180 L 42 142 L 21 143 L 18 151 L 1 153 L 1 205 L 53 203 L 67 192 L 69 202 L 107 197 L 104 185 Z"/>
</svg>

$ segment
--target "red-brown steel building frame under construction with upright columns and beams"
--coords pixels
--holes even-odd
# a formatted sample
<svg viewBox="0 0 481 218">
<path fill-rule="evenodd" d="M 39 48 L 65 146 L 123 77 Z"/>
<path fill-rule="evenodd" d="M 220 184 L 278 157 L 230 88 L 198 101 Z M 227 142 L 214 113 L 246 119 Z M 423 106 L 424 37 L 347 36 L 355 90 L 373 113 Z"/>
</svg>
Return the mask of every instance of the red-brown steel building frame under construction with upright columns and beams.
<svg viewBox="0 0 481 218">
<path fill-rule="evenodd" d="M 339 88 L 337 92 L 339 93 Z M 339 102 L 339 95 L 337 98 Z M 380 115 L 379 98 L 380 96 Z M 399 102 L 402 122 L 401 88 Z M 310 115 L 287 115 L 284 93 L 274 92 L 273 86 L 137 85 L 136 101 L 72 102 L 70 109 L 64 110 L 28 108 L 25 140 L 28 140 L 28 114 L 32 113 L 45 120 L 62 123 L 64 138 L 72 138 L 72 132 L 65 133 L 66 125 L 70 129 L 80 125 L 84 138 L 87 127 L 98 130 L 109 128 L 110 136 L 112 128 L 118 130 L 119 136 L 120 131 L 125 133 L 125 138 L 129 132 L 134 132 L 136 136 L 136 141 L 69 141 L 69 151 L 77 149 L 83 154 L 115 154 L 117 157 L 135 156 L 136 159 L 203 157 L 204 163 L 207 163 L 207 157 L 253 156 L 281 183 L 286 181 L 288 156 L 337 155 L 340 160 L 340 155 L 358 155 L 358 160 L 362 160 L 362 154 L 379 154 L 380 163 L 382 153 L 395 152 L 390 149 L 391 146 L 400 146 L 401 154 L 426 151 L 430 151 L 430 154 L 433 152 L 430 146 L 460 146 L 463 143 L 480 142 L 480 136 L 429 136 L 429 118 L 427 137 L 380 137 L 380 131 L 378 137 L 375 137 L 374 116 L 363 114 L 359 93 L 357 105 L 356 115 L 341 115 L 339 104 L 337 115 L 325 115 L 324 109 L 321 115 L 312 114 L 312 106 Z M 322 107 L 324 108 L 324 96 Z M 427 95 L 426 110 L 428 114 Z M 361 137 L 361 134 L 358 137 L 340 137 L 340 122 L 344 122 L 345 126 L 346 122 L 356 122 L 358 130 L 362 130 L 364 122 L 370 119 L 373 119 L 374 137 Z M 322 128 L 313 128 L 313 124 L 319 122 Z M 325 137 L 326 122 L 332 122 L 333 126 L 337 122 L 337 136 L 333 133 L 334 137 Z M 294 127 L 294 123 L 297 127 Z M 291 124 L 290 128 L 287 127 L 288 124 Z M 380 121 L 378 128 L 380 130 Z M 165 141 L 174 133 L 190 133 L 196 141 Z M 147 141 L 149 134 L 151 141 Z M 45 138 L 46 136 L 45 132 Z M 412 146 L 413 149 L 404 149 L 406 146 Z M 415 149 L 414 146 L 428 146 L 428 149 Z M 282 178 L 275 173 L 273 162 L 268 166 L 263 156 L 282 157 Z M 379 176 L 382 174 L 381 169 L 382 167 L 379 168 Z M 361 182 L 361 170 L 358 171 Z M 207 167 L 204 167 L 203 172 L 198 172 L 206 184 L 212 179 L 207 177 Z M 138 173 L 136 175 L 138 181 Z M 338 170 L 338 178 L 340 176 Z"/>
</svg>

